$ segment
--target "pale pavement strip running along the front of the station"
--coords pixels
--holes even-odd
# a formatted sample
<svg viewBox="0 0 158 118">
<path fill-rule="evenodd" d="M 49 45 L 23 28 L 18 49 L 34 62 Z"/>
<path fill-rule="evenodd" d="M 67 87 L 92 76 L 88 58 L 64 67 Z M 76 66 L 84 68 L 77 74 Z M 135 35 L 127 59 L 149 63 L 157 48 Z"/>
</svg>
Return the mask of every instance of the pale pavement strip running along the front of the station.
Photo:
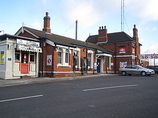
<svg viewBox="0 0 158 118">
<path fill-rule="evenodd" d="M 82 76 L 61 77 L 61 78 L 37 77 L 37 78 L 23 78 L 23 79 L 0 79 L 0 87 L 53 82 L 53 81 L 75 80 L 75 79 L 84 79 L 84 78 L 92 78 L 92 77 L 116 76 L 116 75 L 118 74 L 95 74 L 95 75 L 82 75 Z"/>
</svg>

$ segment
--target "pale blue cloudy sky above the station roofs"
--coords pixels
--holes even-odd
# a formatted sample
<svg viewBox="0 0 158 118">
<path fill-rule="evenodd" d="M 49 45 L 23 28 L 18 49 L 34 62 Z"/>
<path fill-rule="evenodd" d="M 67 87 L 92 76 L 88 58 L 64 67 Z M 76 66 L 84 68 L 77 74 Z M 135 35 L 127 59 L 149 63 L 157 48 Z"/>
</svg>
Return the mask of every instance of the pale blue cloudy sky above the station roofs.
<svg viewBox="0 0 158 118">
<path fill-rule="evenodd" d="M 158 54 L 157 5 L 158 0 L 124 0 L 124 32 L 132 36 L 136 24 L 142 54 Z M 0 6 L 0 30 L 8 34 L 15 34 L 22 24 L 42 30 L 46 12 L 52 33 L 58 35 L 75 38 L 76 20 L 82 41 L 98 34 L 100 26 L 108 33 L 121 31 L 121 0 L 1 0 Z"/>
</svg>

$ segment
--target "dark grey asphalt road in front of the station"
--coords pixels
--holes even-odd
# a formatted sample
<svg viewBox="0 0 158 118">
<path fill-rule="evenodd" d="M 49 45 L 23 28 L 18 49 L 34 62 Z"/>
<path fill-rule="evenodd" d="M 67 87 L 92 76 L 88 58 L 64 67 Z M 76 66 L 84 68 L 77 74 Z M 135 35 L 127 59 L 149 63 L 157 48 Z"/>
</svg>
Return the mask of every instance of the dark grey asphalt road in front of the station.
<svg viewBox="0 0 158 118">
<path fill-rule="evenodd" d="M 158 118 L 158 75 L 2 87 L 0 118 Z"/>
</svg>

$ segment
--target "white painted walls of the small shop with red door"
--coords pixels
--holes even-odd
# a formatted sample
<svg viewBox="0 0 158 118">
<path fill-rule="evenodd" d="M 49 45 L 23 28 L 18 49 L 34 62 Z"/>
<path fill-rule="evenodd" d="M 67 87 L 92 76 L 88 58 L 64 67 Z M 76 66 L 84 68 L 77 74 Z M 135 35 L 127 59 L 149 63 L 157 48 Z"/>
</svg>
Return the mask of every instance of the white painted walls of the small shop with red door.
<svg viewBox="0 0 158 118">
<path fill-rule="evenodd" d="M 20 72 L 20 63 L 15 62 L 15 49 L 16 40 L 7 38 L 5 41 L 0 41 L 0 51 L 5 52 L 5 63 L 0 64 L 0 78 L 17 79 L 21 76 L 38 77 L 39 53 L 36 53 L 36 64 L 29 63 L 30 72 L 22 74 Z"/>
</svg>

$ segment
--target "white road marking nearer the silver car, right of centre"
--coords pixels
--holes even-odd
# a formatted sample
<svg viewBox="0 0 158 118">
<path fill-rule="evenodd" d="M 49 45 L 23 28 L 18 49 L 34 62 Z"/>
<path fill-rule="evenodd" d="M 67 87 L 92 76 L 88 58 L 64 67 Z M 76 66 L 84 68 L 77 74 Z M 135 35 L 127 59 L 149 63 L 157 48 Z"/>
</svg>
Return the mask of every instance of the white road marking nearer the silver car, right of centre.
<svg viewBox="0 0 158 118">
<path fill-rule="evenodd" d="M 86 91 L 96 91 L 96 90 L 103 90 L 103 89 L 114 89 L 114 88 L 135 87 L 135 86 L 138 86 L 138 84 L 122 85 L 122 86 L 109 86 L 109 87 L 101 87 L 101 88 L 92 88 L 92 89 L 85 89 L 83 91 L 86 92 Z"/>
</svg>

